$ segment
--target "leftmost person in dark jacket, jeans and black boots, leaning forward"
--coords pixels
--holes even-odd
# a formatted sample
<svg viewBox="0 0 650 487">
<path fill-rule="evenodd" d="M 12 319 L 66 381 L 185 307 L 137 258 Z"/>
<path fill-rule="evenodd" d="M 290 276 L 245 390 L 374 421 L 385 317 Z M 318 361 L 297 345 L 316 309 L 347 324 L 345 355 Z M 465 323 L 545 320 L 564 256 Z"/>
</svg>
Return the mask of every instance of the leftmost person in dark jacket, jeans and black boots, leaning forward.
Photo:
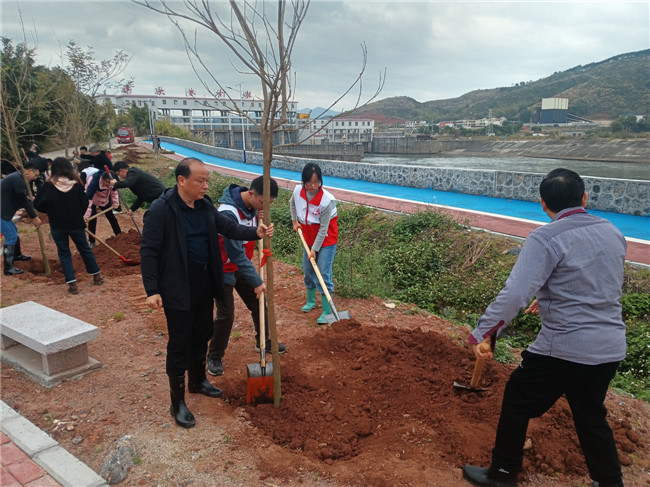
<svg viewBox="0 0 650 487">
<path fill-rule="evenodd" d="M 26 179 L 29 182 L 34 181 L 40 175 L 40 171 L 32 163 L 28 162 L 23 167 Z M 32 202 L 27 197 L 25 178 L 23 178 L 23 175 L 19 171 L 11 173 L 2 179 L 0 193 L 2 195 L 2 235 L 5 238 L 4 275 L 22 274 L 25 271 L 14 267 L 14 261 L 29 260 L 31 257 L 23 255 L 20 252 L 18 228 L 16 228 L 16 224 L 12 221 L 12 218 L 19 209 L 24 208 L 32 218 L 32 223 L 36 228 L 41 226 L 41 219 L 36 214 Z"/>
</svg>

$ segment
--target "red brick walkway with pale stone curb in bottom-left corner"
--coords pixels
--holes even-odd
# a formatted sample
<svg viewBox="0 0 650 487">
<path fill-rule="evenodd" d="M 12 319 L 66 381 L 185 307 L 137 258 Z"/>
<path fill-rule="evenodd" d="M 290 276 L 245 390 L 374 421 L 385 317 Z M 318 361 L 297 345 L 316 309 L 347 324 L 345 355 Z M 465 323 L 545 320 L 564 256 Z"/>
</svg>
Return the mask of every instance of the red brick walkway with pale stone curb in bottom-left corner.
<svg viewBox="0 0 650 487">
<path fill-rule="evenodd" d="M 0 486 L 108 487 L 50 435 L 0 401 Z"/>
</svg>

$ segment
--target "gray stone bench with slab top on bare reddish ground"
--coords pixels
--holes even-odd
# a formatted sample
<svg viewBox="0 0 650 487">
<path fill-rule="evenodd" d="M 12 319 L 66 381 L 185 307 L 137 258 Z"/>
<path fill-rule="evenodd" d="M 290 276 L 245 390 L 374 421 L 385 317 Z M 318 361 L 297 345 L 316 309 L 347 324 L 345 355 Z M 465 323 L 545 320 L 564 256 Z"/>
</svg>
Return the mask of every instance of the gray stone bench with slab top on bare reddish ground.
<svg viewBox="0 0 650 487">
<path fill-rule="evenodd" d="M 97 327 L 33 301 L 0 310 L 2 361 L 45 387 L 101 368 L 88 357 Z"/>
</svg>

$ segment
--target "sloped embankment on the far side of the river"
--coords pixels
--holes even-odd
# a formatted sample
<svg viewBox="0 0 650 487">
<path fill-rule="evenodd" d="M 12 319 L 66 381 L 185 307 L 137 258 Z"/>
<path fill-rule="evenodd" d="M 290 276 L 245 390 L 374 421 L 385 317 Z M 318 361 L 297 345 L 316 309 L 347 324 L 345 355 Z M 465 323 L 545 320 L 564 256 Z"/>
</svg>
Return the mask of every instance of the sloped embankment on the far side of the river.
<svg viewBox="0 0 650 487">
<path fill-rule="evenodd" d="M 426 140 L 375 139 L 377 154 L 436 154 L 441 156 L 523 156 L 582 161 L 650 163 L 650 140 Z"/>
</svg>

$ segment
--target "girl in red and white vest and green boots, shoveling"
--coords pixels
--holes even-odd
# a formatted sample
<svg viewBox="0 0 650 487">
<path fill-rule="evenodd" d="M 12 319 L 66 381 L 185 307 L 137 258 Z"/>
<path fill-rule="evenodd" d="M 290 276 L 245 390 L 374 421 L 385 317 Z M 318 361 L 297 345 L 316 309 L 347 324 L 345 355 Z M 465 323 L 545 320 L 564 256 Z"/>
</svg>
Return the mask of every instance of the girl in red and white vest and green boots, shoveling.
<svg viewBox="0 0 650 487">
<path fill-rule="evenodd" d="M 325 286 L 332 294 L 334 292 L 332 264 L 339 234 L 336 199 L 323 189 L 323 175 L 317 164 L 310 162 L 305 165 L 301 179 L 302 184 L 294 188 L 290 204 L 293 229 L 294 231 L 298 231 L 298 228 L 302 229 L 307 245 L 311 249 L 309 254 L 303 250 L 302 270 L 305 273 L 307 304 L 302 307 L 302 310 L 306 313 L 316 307 L 316 289 L 318 289 L 321 293 L 323 313 L 316 322 L 324 324 L 327 323 L 325 315 L 331 314 L 332 309 L 321 289 L 310 258 L 316 260 Z"/>
</svg>

